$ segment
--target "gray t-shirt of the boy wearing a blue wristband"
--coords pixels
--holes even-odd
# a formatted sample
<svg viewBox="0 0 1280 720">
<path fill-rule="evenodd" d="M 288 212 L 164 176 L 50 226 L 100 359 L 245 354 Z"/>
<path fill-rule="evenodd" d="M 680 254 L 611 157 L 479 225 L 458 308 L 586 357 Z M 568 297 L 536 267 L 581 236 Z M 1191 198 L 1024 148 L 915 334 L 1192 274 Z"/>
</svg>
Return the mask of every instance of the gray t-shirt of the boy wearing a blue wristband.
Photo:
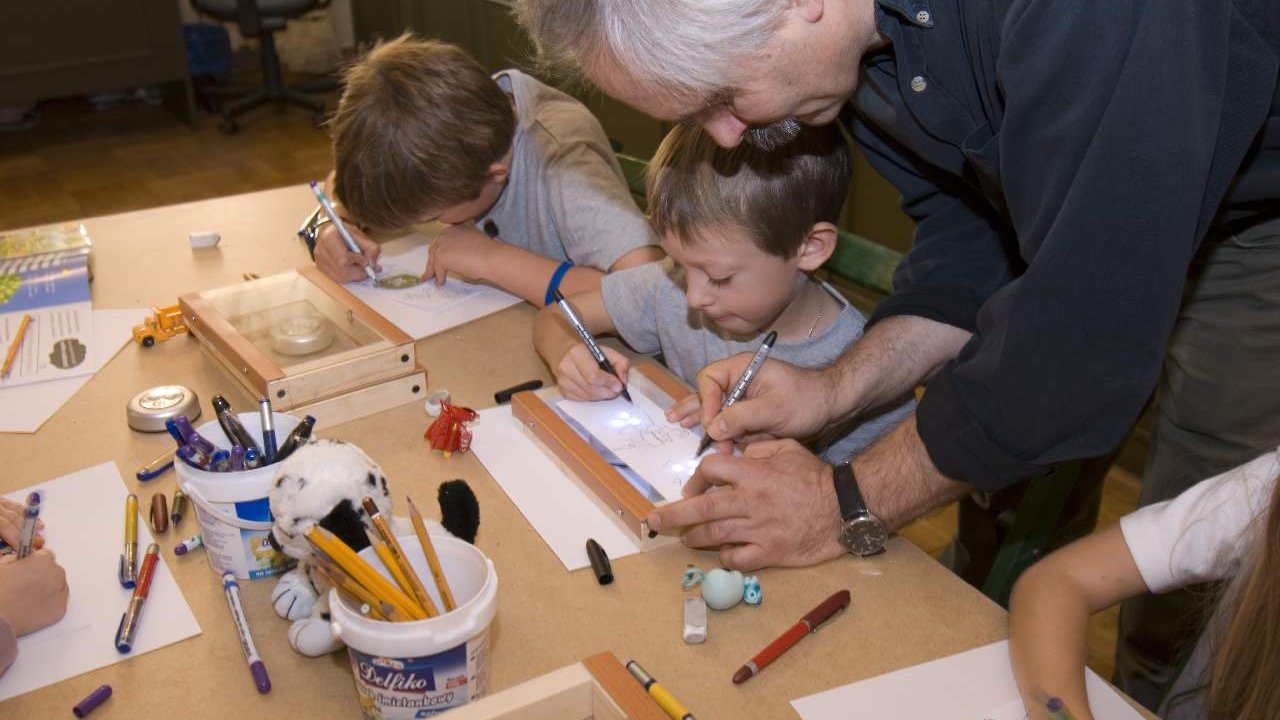
<svg viewBox="0 0 1280 720">
<path fill-rule="evenodd" d="M 595 115 L 520 70 L 493 79 L 515 102 L 516 136 L 511 179 L 476 227 L 544 258 L 600 270 L 657 245 Z"/>
</svg>

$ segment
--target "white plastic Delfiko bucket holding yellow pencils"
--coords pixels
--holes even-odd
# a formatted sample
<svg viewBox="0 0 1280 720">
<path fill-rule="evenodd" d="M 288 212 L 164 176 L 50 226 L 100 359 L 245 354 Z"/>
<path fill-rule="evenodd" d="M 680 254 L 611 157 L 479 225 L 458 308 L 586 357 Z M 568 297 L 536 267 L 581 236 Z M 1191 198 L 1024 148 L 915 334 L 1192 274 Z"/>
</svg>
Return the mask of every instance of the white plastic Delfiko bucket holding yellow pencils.
<svg viewBox="0 0 1280 720">
<path fill-rule="evenodd" d="M 435 606 L 443 610 L 417 537 L 398 539 Z M 489 684 L 489 624 L 498 612 L 493 561 L 451 536 L 433 533 L 431 542 L 458 602 L 452 612 L 387 623 L 365 618 L 337 591 L 329 592 L 330 626 L 347 643 L 365 720 L 430 717 L 479 700 Z M 372 548 L 361 557 L 390 578 Z"/>
</svg>

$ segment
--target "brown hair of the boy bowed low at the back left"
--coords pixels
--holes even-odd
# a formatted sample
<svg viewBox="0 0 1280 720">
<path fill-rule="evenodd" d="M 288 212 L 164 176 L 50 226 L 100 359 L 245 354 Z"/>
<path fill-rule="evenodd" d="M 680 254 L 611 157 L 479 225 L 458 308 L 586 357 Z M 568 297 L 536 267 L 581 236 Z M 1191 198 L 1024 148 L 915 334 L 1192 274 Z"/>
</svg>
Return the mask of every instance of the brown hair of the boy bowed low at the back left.
<svg viewBox="0 0 1280 720">
<path fill-rule="evenodd" d="M 402 35 L 347 69 L 330 127 L 343 206 L 401 228 L 475 199 L 511 149 L 516 113 L 461 47 Z"/>
</svg>

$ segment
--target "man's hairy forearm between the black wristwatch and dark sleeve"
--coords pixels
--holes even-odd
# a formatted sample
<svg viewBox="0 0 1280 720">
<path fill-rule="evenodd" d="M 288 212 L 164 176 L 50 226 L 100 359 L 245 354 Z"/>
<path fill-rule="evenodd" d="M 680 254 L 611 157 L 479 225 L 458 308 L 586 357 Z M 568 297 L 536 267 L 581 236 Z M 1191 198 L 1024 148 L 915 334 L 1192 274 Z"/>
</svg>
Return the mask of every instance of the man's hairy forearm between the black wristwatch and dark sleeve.
<svg viewBox="0 0 1280 720">
<path fill-rule="evenodd" d="M 854 457 L 867 507 L 890 530 L 968 495 L 973 488 L 933 466 L 911 415 Z"/>
</svg>

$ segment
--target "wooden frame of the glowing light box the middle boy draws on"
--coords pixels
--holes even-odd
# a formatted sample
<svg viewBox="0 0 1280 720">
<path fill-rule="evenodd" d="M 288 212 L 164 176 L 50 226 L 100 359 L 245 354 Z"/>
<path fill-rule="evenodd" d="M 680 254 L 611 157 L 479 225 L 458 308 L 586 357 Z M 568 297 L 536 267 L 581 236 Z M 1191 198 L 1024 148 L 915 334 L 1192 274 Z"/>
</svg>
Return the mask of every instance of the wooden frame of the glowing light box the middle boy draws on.
<svg viewBox="0 0 1280 720">
<path fill-rule="evenodd" d="M 655 363 L 639 363 L 632 369 L 635 372 L 631 374 L 628 391 L 643 392 L 660 406 L 692 392 Z M 548 398 L 557 396 L 548 395 Z M 518 392 L 511 398 L 511 414 L 544 452 L 595 500 L 605 515 L 640 544 L 640 550 L 671 542 L 664 536 L 649 537 L 645 518 L 655 507 L 654 502 L 566 423 L 552 404 L 536 392 Z"/>
</svg>

